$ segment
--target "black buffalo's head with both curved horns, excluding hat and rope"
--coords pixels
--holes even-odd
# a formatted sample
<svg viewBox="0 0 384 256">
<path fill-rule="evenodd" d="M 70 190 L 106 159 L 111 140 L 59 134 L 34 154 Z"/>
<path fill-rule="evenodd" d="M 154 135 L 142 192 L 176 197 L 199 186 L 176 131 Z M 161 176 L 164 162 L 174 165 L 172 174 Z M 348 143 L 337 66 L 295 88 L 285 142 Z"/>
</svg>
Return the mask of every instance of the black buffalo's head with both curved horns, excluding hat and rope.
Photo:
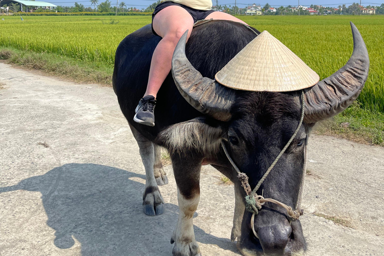
<svg viewBox="0 0 384 256">
<path fill-rule="evenodd" d="M 315 122 L 331 117 L 356 99 L 368 74 L 369 59 L 364 41 L 351 23 L 353 53 L 338 71 L 304 89 L 304 121 L 288 149 L 269 173 L 257 194 L 295 208 L 299 202 L 306 160 L 306 142 Z M 218 120 L 215 138 L 223 141 L 230 157 L 249 177 L 253 188 L 284 147 L 300 119 L 300 92 L 247 92 L 225 87 L 202 77 L 185 56 L 184 34 L 172 58 L 172 75 L 183 97 L 207 118 Z M 209 121 L 205 122 L 209 125 Z M 217 123 L 217 122 L 215 122 Z M 216 125 L 217 126 L 217 125 Z M 222 152 L 222 151 L 221 151 Z M 305 250 L 300 222 L 290 221 L 283 208 L 265 203 L 254 219 L 256 238 L 250 227 L 239 181 L 231 239 L 244 255 L 296 255 Z"/>
</svg>

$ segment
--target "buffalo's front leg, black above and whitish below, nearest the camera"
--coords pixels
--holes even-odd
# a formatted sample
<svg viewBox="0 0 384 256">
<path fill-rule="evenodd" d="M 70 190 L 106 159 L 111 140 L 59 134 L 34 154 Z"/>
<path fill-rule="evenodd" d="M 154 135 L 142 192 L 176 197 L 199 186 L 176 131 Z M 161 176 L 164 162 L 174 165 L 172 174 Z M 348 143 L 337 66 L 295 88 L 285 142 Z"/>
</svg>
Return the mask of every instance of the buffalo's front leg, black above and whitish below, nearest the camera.
<svg viewBox="0 0 384 256">
<path fill-rule="evenodd" d="M 193 155 L 193 154 L 190 154 Z M 174 178 L 177 184 L 178 219 L 170 242 L 174 242 L 175 256 L 200 255 L 194 238 L 192 217 L 200 199 L 200 169 L 202 158 L 171 156 Z"/>
</svg>

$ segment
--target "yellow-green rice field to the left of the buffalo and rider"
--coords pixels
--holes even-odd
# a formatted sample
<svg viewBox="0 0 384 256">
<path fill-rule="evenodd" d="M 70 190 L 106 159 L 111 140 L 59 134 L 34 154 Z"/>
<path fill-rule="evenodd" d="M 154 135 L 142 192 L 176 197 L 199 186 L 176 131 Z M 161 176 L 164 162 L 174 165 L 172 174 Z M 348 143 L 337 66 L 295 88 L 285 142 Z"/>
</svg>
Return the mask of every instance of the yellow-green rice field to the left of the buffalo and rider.
<svg viewBox="0 0 384 256">
<path fill-rule="evenodd" d="M 4 16 L 0 21 L 1 46 L 113 65 L 118 43 L 150 23 L 151 16 Z"/>
</svg>

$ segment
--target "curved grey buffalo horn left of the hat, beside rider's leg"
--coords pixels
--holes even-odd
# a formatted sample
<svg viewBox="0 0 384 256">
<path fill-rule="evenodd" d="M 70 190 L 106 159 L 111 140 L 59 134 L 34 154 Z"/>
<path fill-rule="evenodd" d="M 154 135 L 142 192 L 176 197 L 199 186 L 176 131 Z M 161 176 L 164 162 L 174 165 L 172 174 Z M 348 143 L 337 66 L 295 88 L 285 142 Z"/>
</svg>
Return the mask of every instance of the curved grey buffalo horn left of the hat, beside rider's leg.
<svg viewBox="0 0 384 256">
<path fill-rule="evenodd" d="M 203 77 L 185 56 L 188 30 L 181 36 L 172 57 L 172 76 L 181 95 L 201 113 L 216 120 L 230 119 L 230 106 L 235 99 L 233 89 L 222 86 L 215 80 Z"/>
</svg>

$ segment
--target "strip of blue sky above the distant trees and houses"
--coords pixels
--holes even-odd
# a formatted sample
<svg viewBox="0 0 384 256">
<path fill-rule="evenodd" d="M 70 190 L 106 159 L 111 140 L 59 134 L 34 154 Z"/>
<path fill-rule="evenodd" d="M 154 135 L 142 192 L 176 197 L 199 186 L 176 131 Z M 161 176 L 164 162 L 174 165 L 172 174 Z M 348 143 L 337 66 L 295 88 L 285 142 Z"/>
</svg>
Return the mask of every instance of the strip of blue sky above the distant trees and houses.
<svg viewBox="0 0 384 256">
<path fill-rule="evenodd" d="M 55 5 L 62 5 L 62 6 L 73 6 L 74 0 L 43 0 L 46 2 L 53 3 Z M 98 3 L 103 2 L 105 0 L 98 0 Z M 116 0 L 110 0 L 112 6 L 116 6 Z M 156 2 L 157 0 L 119 0 L 124 1 L 125 5 L 127 7 L 136 7 L 137 9 L 146 8 L 149 4 Z M 300 0 L 300 5 L 303 6 L 309 6 L 310 4 L 317 4 L 317 5 L 323 5 L 323 6 L 335 6 L 345 4 L 346 6 L 352 4 L 353 2 L 357 2 L 358 0 Z M 78 3 L 83 4 L 85 7 L 93 5 L 90 4 L 89 0 L 78 0 Z M 361 5 L 380 5 L 384 0 L 361 0 Z M 216 3 L 216 0 L 213 0 L 213 4 Z M 236 5 L 239 6 L 239 8 L 245 7 L 246 5 L 256 3 L 260 4 L 261 7 L 265 5 L 265 3 L 269 3 L 271 6 L 286 6 L 286 5 L 292 5 L 297 6 L 298 0 L 236 0 Z M 234 5 L 234 0 L 218 0 L 218 4 L 227 6 Z"/>
</svg>

